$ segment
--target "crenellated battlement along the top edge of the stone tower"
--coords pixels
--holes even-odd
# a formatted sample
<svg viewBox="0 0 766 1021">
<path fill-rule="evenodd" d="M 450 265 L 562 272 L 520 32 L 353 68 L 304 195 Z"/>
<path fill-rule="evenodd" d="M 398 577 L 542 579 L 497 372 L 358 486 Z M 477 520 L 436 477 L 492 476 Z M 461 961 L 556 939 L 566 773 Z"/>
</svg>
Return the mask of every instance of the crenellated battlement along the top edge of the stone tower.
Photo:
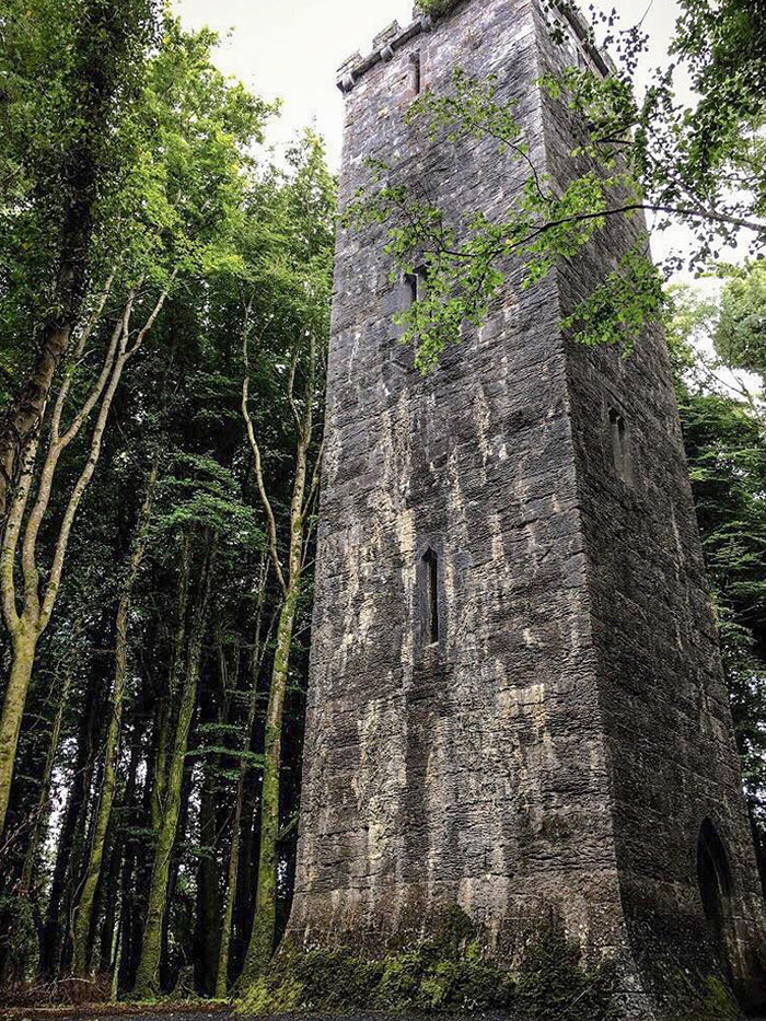
<svg viewBox="0 0 766 1021">
<path fill-rule="evenodd" d="M 472 2 L 472 0 L 463 0 L 459 7 L 463 7 L 466 2 Z M 615 66 L 612 59 L 607 55 L 602 54 L 592 44 L 588 22 L 580 11 L 564 2 L 558 4 L 558 7 L 564 23 L 570 31 L 571 43 L 577 47 L 585 62 L 593 70 L 603 74 L 604 78 L 614 73 Z M 419 14 L 417 9 L 414 11 L 414 14 L 415 20 L 406 28 L 403 28 L 398 21 L 394 21 L 382 32 L 379 32 L 372 40 L 371 51 L 365 57 L 357 50 L 340 65 L 337 73 L 337 83 L 338 89 L 340 89 L 344 95 L 351 92 L 359 79 L 369 70 L 378 63 L 393 60 L 397 49 L 402 49 L 402 47 L 417 36 L 432 32 L 434 24 L 438 21 L 450 18 L 452 11 L 439 18 L 434 18 L 431 14 Z"/>
</svg>

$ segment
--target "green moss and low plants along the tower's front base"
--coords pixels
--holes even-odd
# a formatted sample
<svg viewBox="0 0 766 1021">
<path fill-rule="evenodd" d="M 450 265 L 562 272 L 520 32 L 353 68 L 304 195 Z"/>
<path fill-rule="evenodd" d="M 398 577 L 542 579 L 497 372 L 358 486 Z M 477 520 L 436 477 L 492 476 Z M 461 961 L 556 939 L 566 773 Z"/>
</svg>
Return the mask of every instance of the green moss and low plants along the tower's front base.
<svg viewBox="0 0 766 1021">
<path fill-rule="evenodd" d="M 414 950 L 372 956 L 286 943 L 237 1005 L 242 1014 L 289 1011 L 512 1010 L 518 1021 L 613 1021 L 619 1017 L 610 964 L 582 965 L 556 927 L 537 933 L 515 975 L 485 955 L 484 933 L 451 913 Z"/>
</svg>

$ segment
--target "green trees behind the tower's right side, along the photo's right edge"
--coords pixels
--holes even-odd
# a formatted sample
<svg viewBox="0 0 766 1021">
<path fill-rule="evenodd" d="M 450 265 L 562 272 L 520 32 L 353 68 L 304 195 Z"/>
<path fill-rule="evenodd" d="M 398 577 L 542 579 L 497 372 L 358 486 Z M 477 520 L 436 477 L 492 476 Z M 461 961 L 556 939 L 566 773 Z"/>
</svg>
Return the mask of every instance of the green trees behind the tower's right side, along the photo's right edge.
<svg viewBox="0 0 766 1021">
<path fill-rule="evenodd" d="M 763 270 L 719 267 L 720 293 L 676 288 L 669 343 L 745 790 L 766 827 L 766 433 Z"/>
</svg>

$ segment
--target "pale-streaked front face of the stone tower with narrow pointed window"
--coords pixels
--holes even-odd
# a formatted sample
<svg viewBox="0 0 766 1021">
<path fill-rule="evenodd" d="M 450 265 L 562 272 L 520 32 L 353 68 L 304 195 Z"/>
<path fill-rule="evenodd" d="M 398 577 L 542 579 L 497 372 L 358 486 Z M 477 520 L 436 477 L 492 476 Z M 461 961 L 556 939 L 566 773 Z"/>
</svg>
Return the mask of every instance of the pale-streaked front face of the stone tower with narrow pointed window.
<svg viewBox="0 0 766 1021">
<path fill-rule="evenodd" d="M 364 74 L 341 202 L 376 155 L 454 217 L 502 214 L 523 176 L 496 143 L 445 148 L 405 125 L 408 57 L 433 89 L 459 65 L 497 71 L 542 164 L 535 39 L 530 3 L 473 3 Z M 592 925 L 616 915 L 618 887 L 555 281 L 522 292 L 511 272 L 480 336 L 423 379 L 392 326 L 391 269 L 379 232 L 340 233 L 291 926 L 401 932 L 456 901 L 517 931 L 558 903 L 573 930 L 611 940 Z"/>
</svg>

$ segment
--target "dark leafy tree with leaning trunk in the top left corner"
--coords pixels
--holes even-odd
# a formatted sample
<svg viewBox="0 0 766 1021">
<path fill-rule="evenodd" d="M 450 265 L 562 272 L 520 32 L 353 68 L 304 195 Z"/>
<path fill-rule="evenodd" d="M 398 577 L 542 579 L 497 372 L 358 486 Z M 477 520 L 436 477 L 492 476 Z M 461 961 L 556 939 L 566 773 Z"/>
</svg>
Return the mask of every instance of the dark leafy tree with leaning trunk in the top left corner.
<svg viewBox="0 0 766 1021">
<path fill-rule="evenodd" d="M 105 0 L 9 0 L 0 16 L 0 318 L 19 356 L 5 364 L 0 522 L 80 321 L 98 262 L 101 195 L 125 174 L 119 126 L 158 27 L 154 0 L 119 9 Z"/>
</svg>

